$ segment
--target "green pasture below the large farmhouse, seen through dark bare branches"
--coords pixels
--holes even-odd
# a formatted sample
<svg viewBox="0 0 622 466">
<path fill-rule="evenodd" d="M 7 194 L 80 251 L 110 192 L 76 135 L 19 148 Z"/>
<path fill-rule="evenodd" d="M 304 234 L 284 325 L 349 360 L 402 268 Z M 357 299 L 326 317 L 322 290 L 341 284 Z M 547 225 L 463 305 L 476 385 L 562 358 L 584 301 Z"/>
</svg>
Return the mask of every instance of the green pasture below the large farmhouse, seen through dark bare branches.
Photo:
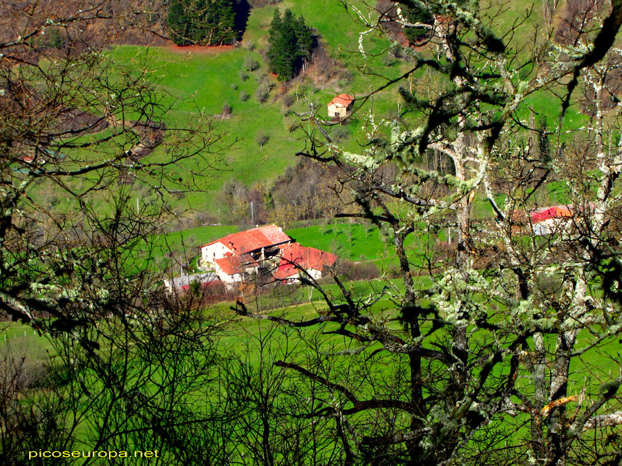
<svg viewBox="0 0 622 466">
<path fill-rule="evenodd" d="M 399 284 L 394 282 L 397 287 Z M 428 278 L 420 279 L 418 284 L 422 287 L 429 285 Z M 363 282 L 352 283 L 352 291 L 355 296 L 363 298 L 366 293 L 369 293 L 371 284 Z M 334 285 L 328 285 L 327 291 L 338 295 L 337 287 Z M 286 298 L 288 304 L 285 307 L 279 307 L 277 302 L 278 296 L 261 296 L 259 300 L 262 301 L 261 307 L 264 308 L 262 313 L 268 313 L 277 317 L 287 318 L 289 320 L 308 320 L 317 316 L 317 313 L 322 313 L 326 310 L 321 300 L 317 299 L 317 295 L 313 295 L 309 299 L 308 291 L 305 289 L 292 289 Z M 270 304 L 270 300 L 274 302 Z M 255 310 L 257 301 L 249 302 L 249 308 Z M 250 318 L 241 318 L 234 315 L 232 311 L 228 311 L 230 303 L 220 303 L 215 306 L 211 306 L 205 312 L 208 315 L 218 315 L 218 318 L 223 322 L 226 322 L 223 331 L 216 337 L 216 349 L 220 355 L 230 361 L 239 361 L 239 364 L 246 367 L 248 373 L 256 373 L 261 365 L 264 365 L 266 372 L 265 377 L 276 376 L 278 372 L 271 372 L 267 369 L 272 365 L 275 360 L 281 358 L 287 358 L 290 362 L 299 362 L 301 365 L 305 364 L 306 358 L 313 357 L 314 351 L 326 351 L 328 353 L 336 353 L 343 349 L 351 348 L 350 344 L 346 342 L 342 337 L 335 335 L 327 335 L 327 331 L 336 329 L 335 324 L 325 324 L 321 327 L 310 327 L 308 329 L 301 329 L 300 331 L 291 331 L 286 327 L 281 327 L 274 322 L 268 322 L 267 320 L 254 320 Z M 274 306 L 269 309 L 270 305 Z M 378 320 L 384 320 L 386 318 L 395 317 L 395 311 L 393 311 L 393 304 L 389 300 L 381 300 L 375 305 L 373 315 Z M 388 326 L 393 329 L 399 329 L 399 322 L 388 322 Z M 19 324 L 2 324 L 0 327 L 0 351 L 6 351 L 8 347 L 14 352 L 14 354 L 26 355 L 28 365 L 37 367 L 42 363 L 47 363 L 51 355 L 46 350 L 50 349 L 50 345 L 45 338 L 39 336 L 31 336 L 23 338 L 20 334 L 23 332 L 23 326 Z M 424 326 L 424 331 L 427 329 Z M 7 342 L 3 341 L 4 333 L 15 333 L 16 338 L 8 338 Z M 485 344 L 487 332 L 480 333 L 475 332 L 471 338 L 472 344 Z M 269 336 L 269 338 L 267 338 Z M 442 332 L 437 331 L 437 338 L 442 338 Z M 593 336 L 590 332 L 582 331 L 578 336 L 577 349 L 584 349 L 590 346 Z M 433 343 L 435 340 L 431 340 Z M 551 340 L 551 344 L 554 342 Z M 379 344 L 374 344 L 368 347 L 364 351 L 365 355 L 371 355 L 375 350 L 379 349 Z M 431 347 L 433 349 L 433 347 Z M 575 395 L 581 393 L 582 390 L 587 391 L 589 394 L 597 393 L 599 390 L 599 377 L 600 376 L 619 376 L 619 365 L 616 363 L 616 358 L 619 358 L 619 353 L 622 349 L 622 344 L 617 338 L 612 338 L 601 345 L 599 349 L 588 349 L 582 356 L 581 360 L 575 360 L 571 367 L 572 376 L 569 381 L 569 394 Z M 105 350 L 104 350 L 105 351 Z M 311 355 L 311 356 L 310 356 Z M 201 358 L 202 356 L 200 356 Z M 355 356 L 348 356 L 343 354 L 341 356 L 334 356 L 334 366 L 331 371 L 334 373 L 348 373 L 348 365 L 350 364 L 350 358 Z M 194 356 L 193 356 L 194 358 Z M 54 358 L 51 360 L 54 364 Z M 196 362 L 196 361 L 195 361 Z M 376 378 L 391 378 L 396 373 L 405 369 L 405 359 L 397 358 L 394 355 L 388 355 L 388 353 L 379 353 L 375 356 L 375 369 Z M 138 364 L 138 363 L 137 363 Z M 129 362 L 132 367 L 133 362 Z M 226 366 L 225 370 L 234 370 L 238 366 L 238 363 Z M 88 381 L 88 370 L 81 372 L 82 376 L 86 376 L 86 385 L 91 388 L 91 391 L 97 389 L 97 382 Z M 502 377 L 505 374 L 501 371 L 496 371 L 494 374 L 496 377 Z M 151 383 L 159 383 L 161 375 L 158 370 L 151 373 Z M 266 381 L 266 380 L 265 380 Z M 200 385 L 200 380 L 198 380 Z M 284 387 L 288 387 L 289 384 L 296 385 L 296 390 L 304 390 L 305 387 L 299 384 L 299 379 L 294 377 L 292 380 L 285 380 Z M 355 391 L 357 396 L 366 398 L 367 396 L 373 396 L 376 393 L 377 387 L 370 387 L 367 385 L 354 386 L 350 383 L 350 380 L 343 380 L 343 383 L 349 389 Z M 525 374 L 520 376 L 518 380 L 518 387 L 529 393 L 531 387 L 531 380 L 525 377 Z M 293 387 L 292 387 L 293 388 Z M 36 390 L 36 389 L 34 389 Z M 142 387 L 143 391 L 149 393 L 149 387 Z M 199 392 L 194 392 L 189 395 L 190 400 L 196 403 L 194 409 L 197 412 L 203 413 L 209 411 L 209 404 L 218 400 L 218 389 L 214 386 L 214 380 L 206 378 L 203 389 Z M 287 389 L 283 389 L 278 394 L 272 396 L 270 399 L 274 402 L 275 406 L 283 406 L 287 404 L 288 397 Z M 103 405 L 106 404 L 105 400 L 100 400 Z M 88 409 L 88 398 L 84 398 L 84 406 L 79 409 Z M 344 405 L 347 407 L 348 405 Z M 569 405 L 570 409 L 574 406 L 574 403 Z M 77 436 L 78 445 L 80 445 L 80 438 L 88 438 L 90 435 L 89 429 L 101 422 L 97 417 L 86 416 L 82 421 L 82 425 L 79 426 L 75 435 Z M 90 426 L 90 427 L 89 427 Z M 520 436 L 528 435 L 527 431 L 516 432 L 513 440 L 518 442 Z M 85 445 L 87 445 L 85 443 Z M 131 445 L 129 445 L 131 446 Z M 126 449 L 129 449 L 126 448 Z"/>
</svg>

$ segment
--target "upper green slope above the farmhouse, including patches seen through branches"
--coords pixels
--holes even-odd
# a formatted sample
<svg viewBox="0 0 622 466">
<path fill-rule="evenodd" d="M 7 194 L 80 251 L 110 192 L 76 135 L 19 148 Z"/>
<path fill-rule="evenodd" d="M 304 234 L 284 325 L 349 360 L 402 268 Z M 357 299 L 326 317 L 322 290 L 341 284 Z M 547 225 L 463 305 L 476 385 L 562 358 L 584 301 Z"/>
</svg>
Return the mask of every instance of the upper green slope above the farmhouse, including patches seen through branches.
<svg viewBox="0 0 622 466">
<path fill-rule="evenodd" d="M 491 1 L 490 14 L 500 30 L 510 28 L 514 21 L 526 16 L 533 7 L 531 16 L 520 26 L 523 35 L 513 38 L 515 48 L 520 48 L 529 41 L 526 31 L 533 30 L 538 23 L 540 5 L 529 1 L 505 4 L 501 10 L 496 2 Z M 360 8 L 363 2 L 354 2 Z M 206 162 L 196 160 L 181 162 L 178 167 L 180 177 L 187 176 L 187 170 L 205 171 L 205 176 L 198 178 L 201 192 L 171 196 L 167 203 L 177 211 L 187 209 L 214 211 L 218 208 L 217 194 L 225 182 L 235 179 L 246 186 L 261 182 L 271 186 L 276 178 L 285 173 L 288 166 L 296 163 L 295 153 L 305 147 L 303 130 L 309 130 L 310 124 L 301 121 L 296 114 L 308 111 L 303 100 L 294 99 L 291 107 L 285 106 L 283 95 L 291 95 L 292 90 L 276 81 L 267 73 L 267 66 L 262 55 L 267 49 L 267 29 L 274 10 L 291 8 L 294 14 L 303 15 L 306 23 L 314 28 L 319 43 L 328 54 L 337 60 L 338 68 L 346 70 L 341 79 L 332 81 L 313 81 L 311 76 L 301 77 L 294 86 L 306 91 L 306 99 L 319 109 L 321 116 L 326 116 L 326 104 L 332 96 L 348 92 L 356 96 L 386 83 L 386 79 L 395 78 L 408 70 L 406 61 L 393 59 L 387 53 L 390 42 L 375 35 L 365 35 L 362 42 L 367 55 L 359 53 L 359 32 L 364 28 L 357 19 L 337 0 L 314 2 L 289 0 L 277 6 L 265 6 L 251 10 L 243 45 L 238 48 L 216 49 L 215 51 L 197 50 L 196 48 L 115 46 L 109 52 L 109 58 L 120 66 L 133 70 L 147 70 L 147 77 L 166 93 L 162 104 L 172 106 L 172 110 L 161 115 L 169 128 L 183 128 L 187 122 L 196 122 L 200 115 L 220 115 L 223 106 L 228 105 L 231 117 L 215 119 L 216 133 L 222 139 L 212 148 L 218 155 L 206 155 L 213 162 L 207 169 Z M 422 56 L 429 51 L 421 50 Z M 522 57 L 522 55 L 521 55 Z M 522 59 L 527 59 L 527 56 Z M 250 62 L 256 62 L 258 68 L 251 70 Z M 373 70 L 374 74 L 366 71 Z M 379 76 L 379 73 L 383 76 Z M 311 73 L 312 74 L 312 73 Z M 348 78 L 349 75 L 349 78 Z M 415 74 L 415 86 L 425 86 L 424 71 Z M 260 103 L 256 99 L 259 88 L 273 87 L 267 101 Z M 288 97 L 292 99 L 292 97 Z M 359 114 L 348 126 L 333 128 L 343 133 L 339 144 L 351 151 L 361 151 L 365 138 L 361 128 L 364 115 L 373 108 L 375 121 L 390 119 L 397 113 L 397 85 L 390 86 L 364 104 L 359 101 Z M 525 107 L 519 113 L 525 122 L 531 116 L 529 107 L 536 113 L 547 115 L 549 123 L 555 121 L 559 102 L 552 101 L 550 94 L 538 93 L 525 99 Z M 129 118 L 135 115 L 129 115 Z M 411 119 L 406 116 L 406 121 Z M 580 128 L 587 121 L 585 115 L 570 108 L 567 129 Z M 292 126 L 301 126 L 291 131 Z M 267 142 L 260 146 L 258 136 L 265 135 Z M 161 161 L 167 158 L 167 148 L 159 146 L 149 160 Z M 51 187 L 50 187 L 51 189 Z M 155 193 L 147 188 L 134 186 L 136 197 L 142 202 L 153 202 Z M 44 199 L 41 202 L 44 204 Z M 55 201 L 63 208 L 70 200 L 65 197 Z M 107 202 L 101 197 L 93 197 L 95 208 L 106 210 Z"/>
</svg>

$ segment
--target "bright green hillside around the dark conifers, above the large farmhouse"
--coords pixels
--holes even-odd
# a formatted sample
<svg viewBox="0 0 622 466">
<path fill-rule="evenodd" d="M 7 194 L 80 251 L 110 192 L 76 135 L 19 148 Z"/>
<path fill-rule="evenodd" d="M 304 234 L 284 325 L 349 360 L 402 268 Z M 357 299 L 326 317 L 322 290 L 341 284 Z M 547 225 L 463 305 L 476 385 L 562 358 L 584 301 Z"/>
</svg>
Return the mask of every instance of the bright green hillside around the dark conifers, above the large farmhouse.
<svg viewBox="0 0 622 466">
<path fill-rule="evenodd" d="M 219 171 L 202 180 L 207 193 L 188 195 L 182 200 L 171 199 L 173 206 L 198 210 L 214 208 L 214 193 L 227 179 L 238 179 L 247 186 L 254 182 L 271 184 L 283 175 L 285 168 L 294 164 L 294 154 L 304 148 L 303 133 L 290 132 L 288 126 L 299 121 L 294 113 L 308 111 L 304 101 L 295 101 L 286 108 L 282 97 L 288 89 L 267 74 L 262 53 L 267 49 L 267 29 L 270 27 L 274 6 L 256 8 L 251 11 L 243 46 L 233 50 L 205 52 L 184 48 L 137 46 L 116 46 L 109 57 L 116 64 L 133 69 L 149 69 L 148 76 L 168 94 L 165 106 L 173 105 L 162 118 L 170 128 L 183 127 L 196 115 L 219 115 L 225 104 L 232 109 L 229 119 L 218 119 L 216 132 L 223 135 L 220 146 L 226 147 L 223 164 Z M 319 108 L 319 115 L 326 117 L 326 104 L 337 93 L 348 92 L 362 95 L 384 80 L 362 75 L 357 71 L 361 64 L 358 55 L 352 54 L 358 43 L 357 27 L 352 17 L 339 2 L 282 2 L 278 8 L 292 8 L 294 14 L 302 14 L 306 22 L 315 28 L 321 46 L 339 60 L 352 77 L 327 84 L 314 84 L 310 79 L 299 79 L 305 88 L 308 101 Z M 334 25 L 347 25 L 335 28 Z M 345 33 L 343 32 L 345 31 Z M 388 47 L 388 41 L 370 39 L 366 41 L 370 52 L 381 52 Z M 381 58 L 372 59 L 380 61 Z M 250 70 L 247 64 L 255 61 L 259 67 Z M 390 69 L 390 77 L 400 72 L 397 64 Z M 258 88 L 273 86 L 265 103 L 256 99 Z M 247 97 L 245 97 L 247 96 Z M 387 114 L 395 106 L 395 90 L 382 93 L 373 102 L 380 115 Z M 366 107 L 362 109 L 366 111 Z M 286 116 L 287 115 L 287 116 Z M 351 149 L 359 148 L 360 124 L 354 122 L 348 133 L 352 137 L 342 141 Z M 305 127 L 307 128 L 307 127 Z M 307 128 L 308 129 L 308 128 Z M 267 135 L 263 147 L 256 142 L 258 135 Z M 231 147 L 229 148 L 229 145 Z M 164 157 L 165 148 L 158 148 L 150 157 Z M 187 168 L 191 168 L 187 166 Z"/>
</svg>

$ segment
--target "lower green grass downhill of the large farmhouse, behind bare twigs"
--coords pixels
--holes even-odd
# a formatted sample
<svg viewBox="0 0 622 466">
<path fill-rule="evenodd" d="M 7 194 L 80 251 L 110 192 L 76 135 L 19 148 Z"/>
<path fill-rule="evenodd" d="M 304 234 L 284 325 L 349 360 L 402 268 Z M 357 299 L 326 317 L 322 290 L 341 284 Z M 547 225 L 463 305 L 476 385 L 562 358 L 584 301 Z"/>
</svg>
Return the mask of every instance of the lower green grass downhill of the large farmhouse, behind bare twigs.
<svg viewBox="0 0 622 466">
<path fill-rule="evenodd" d="M 216 233 L 216 230 L 213 230 L 212 233 Z M 206 236 L 204 237 L 208 237 L 207 231 L 205 234 Z M 401 285 L 399 284 L 399 280 L 393 280 L 392 283 L 395 287 L 397 287 L 398 291 L 403 291 Z M 420 287 L 427 287 L 429 284 L 429 278 L 427 277 L 417 279 L 417 285 Z M 350 289 L 352 289 L 352 292 L 356 298 L 364 298 L 368 295 L 368 293 L 370 293 L 370 291 L 372 291 L 372 287 L 374 287 L 373 282 L 352 282 L 348 285 L 350 286 Z M 317 293 L 309 295 L 308 289 L 296 287 L 281 288 L 288 291 L 283 297 L 276 293 L 272 296 L 261 295 L 258 297 L 261 311 L 263 313 L 270 313 L 271 315 L 282 316 L 284 318 L 288 318 L 289 320 L 296 321 L 308 320 L 310 318 L 317 317 L 318 311 L 321 312 L 326 309 L 326 305 L 323 304 L 321 299 L 319 299 L 319 295 Z M 326 290 L 328 293 L 339 297 L 339 290 L 336 285 L 327 284 Z M 247 298 L 249 299 L 249 309 L 254 310 L 256 308 L 256 301 L 252 298 Z M 285 306 L 281 307 L 281 302 L 285 302 Z M 327 353 L 334 353 L 348 347 L 351 348 L 350 343 L 343 337 L 324 333 L 326 331 L 337 329 L 335 324 L 329 323 L 319 327 L 308 327 L 301 329 L 300 333 L 298 333 L 297 331 L 292 331 L 291 329 L 288 330 L 286 327 L 279 326 L 274 322 L 254 320 L 251 318 L 240 318 L 232 311 L 228 310 L 229 305 L 230 303 L 227 302 L 219 303 L 213 307 L 210 307 L 210 309 L 207 309 L 206 311 L 209 315 L 219 315 L 221 319 L 227 322 L 224 333 L 217 339 L 217 349 L 223 354 L 223 356 L 225 354 L 228 354 L 229 356 L 238 356 L 242 361 L 244 361 L 244 364 L 249 365 L 249 367 L 258 367 L 258 364 L 262 358 L 263 362 L 268 365 L 272 364 L 274 360 L 286 358 L 289 362 L 299 362 L 301 365 L 305 366 L 308 364 L 308 356 L 312 356 L 313 351 L 318 350 L 325 351 Z M 381 300 L 376 304 L 373 310 L 373 315 L 376 315 L 377 318 L 380 318 L 381 316 L 384 318 L 395 317 L 395 307 L 390 300 Z M 388 323 L 388 326 L 395 331 L 400 330 L 399 325 L 399 322 Z M 26 349 L 28 349 L 28 351 L 33 351 L 34 349 L 34 351 L 41 355 L 38 360 L 44 360 L 45 346 L 47 344 L 47 340 L 45 338 L 39 338 L 38 336 L 33 337 L 31 335 L 28 335 L 27 338 L 23 338 L 23 329 L 28 331 L 28 327 L 20 324 L 5 323 L 1 324 L 0 328 L 3 329 L 3 332 L 0 332 L 0 349 L 6 348 L 7 344 L 19 344 L 20 346 L 16 347 L 16 349 L 20 349 L 20 351 L 24 351 Z M 426 328 L 427 327 L 424 325 L 424 331 Z M 3 333 L 8 334 L 8 342 L 3 342 Z M 12 335 L 16 335 L 16 337 L 14 338 Z M 265 340 L 268 335 L 270 335 L 270 340 Z M 473 345 L 482 345 L 486 343 L 487 338 L 491 338 L 489 331 L 478 331 L 473 334 L 471 343 Z M 442 339 L 442 331 L 437 331 L 435 336 L 431 336 L 427 341 L 428 343 L 432 343 L 440 339 Z M 592 336 L 589 332 L 581 332 L 578 336 L 576 348 L 581 349 L 583 347 L 587 347 L 590 344 L 591 339 Z M 314 344 L 316 343 L 319 344 L 317 348 L 314 347 Z M 553 338 L 549 338 L 549 344 L 554 344 Z M 265 350 L 263 354 L 259 351 L 261 345 L 263 345 Z M 365 349 L 363 354 L 370 356 L 373 351 L 379 348 L 379 344 L 374 344 Z M 431 349 L 434 349 L 434 347 L 431 347 Z M 605 378 L 619 376 L 620 369 L 619 365 L 616 363 L 616 358 L 619 358 L 619 352 L 621 349 L 622 345 L 619 343 L 618 338 L 611 338 L 605 342 L 605 344 L 601 345 L 599 349 L 590 349 L 583 356 L 581 356 L 581 358 L 574 358 L 569 380 L 569 394 L 578 394 L 582 389 L 585 389 L 588 395 L 594 396 L 594 394 L 598 393 L 598 387 L 602 380 Z M 348 369 L 348 365 L 351 363 L 352 356 L 346 356 L 343 354 L 333 356 L 333 358 L 334 365 L 331 367 L 331 373 L 348 373 L 348 370 L 350 370 Z M 30 360 L 31 362 L 33 361 L 32 358 L 30 358 Z M 37 360 L 34 361 L 37 363 Z M 401 356 L 396 356 L 386 352 L 380 353 L 375 359 L 374 367 L 376 371 L 376 378 L 388 378 L 388 380 L 390 380 L 395 371 L 404 369 L 404 363 L 405 360 Z M 507 371 L 507 367 L 499 367 L 493 375 L 495 377 L 502 377 L 507 375 L 505 374 L 505 371 Z M 153 380 L 158 380 L 158 374 L 158 368 L 154 367 L 151 373 Z M 599 378 L 601 378 L 601 380 L 599 380 Z M 206 380 L 205 383 L 206 385 L 209 385 L 209 383 L 214 383 L 214 381 Z M 347 379 L 346 382 L 343 383 L 345 383 L 349 389 L 354 391 L 357 396 L 361 398 L 377 396 L 381 393 L 381 386 L 350 386 Z M 531 380 L 527 378 L 526 371 L 522 371 L 517 384 L 518 387 L 529 393 Z M 93 392 L 95 392 L 95 389 L 97 389 L 97 382 L 93 380 L 93 382 L 88 383 L 88 386 L 91 387 Z M 142 384 L 140 386 L 142 387 Z M 300 385 L 296 385 L 296 387 L 301 389 Z M 145 387 L 144 389 L 148 390 L 149 387 Z M 209 390 L 206 391 L 206 393 L 209 393 Z M 196 395 L 196 400 L 201 400 L 200 402 L 206 401 L 205 398 L 203 398 L 205 395 Z M 280 396 L 281 395 L 276 395 L 276 403 L 280 403 L 282 401 L 279 398 Z M 88 402 L 88 400 L 85 398 L 85 403 L 86 402 Z M 570 403 L 569 407 L 569 409 L 574 409 L 574 402 Z M 197 409 L 205 409 L 205 406 L 199 405 Z M 84 425 L 80 426 L 77 434 L 86 438 L 89 434 L 88 429 L 97 428 L 96 421 L 98 421 L 97 418 L 89 416 L 86 420 L 84 420 Z M 527 435 L 528 431 L 520 430 L 515 434 L 514 438 L 516 442 L 518 442 L 521 437 Z"/>
</svg>

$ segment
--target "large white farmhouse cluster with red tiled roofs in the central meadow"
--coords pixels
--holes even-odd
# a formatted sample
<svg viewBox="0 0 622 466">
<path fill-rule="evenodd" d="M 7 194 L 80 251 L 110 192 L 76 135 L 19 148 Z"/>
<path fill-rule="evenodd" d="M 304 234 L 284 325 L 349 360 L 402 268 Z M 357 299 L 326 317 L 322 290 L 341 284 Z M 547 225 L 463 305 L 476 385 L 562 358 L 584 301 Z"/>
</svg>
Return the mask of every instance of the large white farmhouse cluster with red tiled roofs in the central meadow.
<svg viewBox="0 0 622 466">
<path fill-rule="evenodd" d="M 231 287 L 245 281 L 292 284 L 301 276 L 317 280 L 337 260 L 334 254 L 294 242 L 274 224 L 232 233 L 200 249 L 197 266 L 203 272 L 167 280 L 169 291 L 189 289 L 194 281 Z"/>
</svg>

